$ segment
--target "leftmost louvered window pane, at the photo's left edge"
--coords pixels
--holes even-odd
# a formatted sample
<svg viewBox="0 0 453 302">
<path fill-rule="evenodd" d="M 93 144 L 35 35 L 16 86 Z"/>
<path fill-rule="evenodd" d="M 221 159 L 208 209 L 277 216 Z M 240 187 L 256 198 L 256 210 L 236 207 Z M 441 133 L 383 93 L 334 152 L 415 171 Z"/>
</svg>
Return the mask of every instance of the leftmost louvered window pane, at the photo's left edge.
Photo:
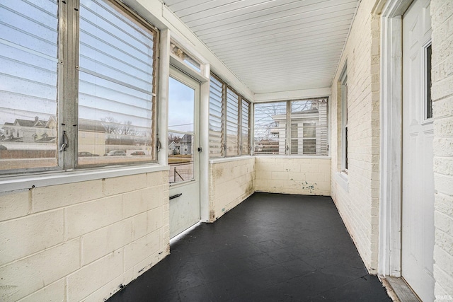
<svg viewBox="0 0 453 302">
<path fill-rule="evenodd" d="M 0 170 L 58 165 L 57 1 L 0 6 Z"/>
</svg>

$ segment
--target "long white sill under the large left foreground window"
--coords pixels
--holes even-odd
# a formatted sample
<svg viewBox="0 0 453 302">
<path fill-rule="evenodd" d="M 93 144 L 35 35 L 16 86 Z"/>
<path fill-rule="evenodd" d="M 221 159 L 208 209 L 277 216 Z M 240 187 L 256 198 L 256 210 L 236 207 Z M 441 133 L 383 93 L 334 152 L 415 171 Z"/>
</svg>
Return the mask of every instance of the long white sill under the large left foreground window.
<svg viewBox="0 0 453 302">
<path fill-rule="evenodd" d="M 47 187 L 64 185 L 72 182 L 84 182 L 101 178 L 152 173 L 168 170 L 168 165 L 137 165 L 135 167 L 91 168 L 71 171 L 54 171 L 35 175 L 18 175 L 0 178 L 0 192 L 30 189 L 32 187 Z"/>
</svg>

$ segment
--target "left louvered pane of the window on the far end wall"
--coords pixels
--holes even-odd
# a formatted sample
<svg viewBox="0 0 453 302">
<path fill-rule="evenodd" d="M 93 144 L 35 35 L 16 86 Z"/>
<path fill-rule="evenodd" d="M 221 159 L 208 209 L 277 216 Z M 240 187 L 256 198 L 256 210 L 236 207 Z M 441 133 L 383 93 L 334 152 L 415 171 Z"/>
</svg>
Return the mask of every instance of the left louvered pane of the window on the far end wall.
<svg viewBox="0 0 453 302">
<path fill-rule="evenodd" d="M 286 102 L 255 104 L 255 154 L 285 154 Z"/>
</svg>

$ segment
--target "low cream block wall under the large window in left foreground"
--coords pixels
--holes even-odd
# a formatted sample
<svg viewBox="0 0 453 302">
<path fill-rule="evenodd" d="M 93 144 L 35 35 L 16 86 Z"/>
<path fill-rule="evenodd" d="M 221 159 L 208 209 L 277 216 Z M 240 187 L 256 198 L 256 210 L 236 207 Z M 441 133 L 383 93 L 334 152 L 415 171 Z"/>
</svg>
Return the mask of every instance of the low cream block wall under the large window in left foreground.
<svg viewBox="0 0 453 302">
<path fill-rule="evenodd" d="M 0 195 L 0 301 L 103 301 L 169 252 L 168 171 Z"/>
</svg>

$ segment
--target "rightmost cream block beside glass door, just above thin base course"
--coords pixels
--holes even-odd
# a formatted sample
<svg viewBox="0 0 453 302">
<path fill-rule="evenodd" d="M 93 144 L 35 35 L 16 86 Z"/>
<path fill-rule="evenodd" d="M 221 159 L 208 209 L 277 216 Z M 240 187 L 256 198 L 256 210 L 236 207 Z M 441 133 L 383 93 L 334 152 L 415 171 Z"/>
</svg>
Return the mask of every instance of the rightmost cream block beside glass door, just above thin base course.
<svg viewBox="0 0 453 302">
<path fill-rule="evenodd" d="M 130 269 L 155 252 L 161 252 L 163 244 L 164 233 L 161 229 L 133 241 L 125 247 L 125 268 Z"/>
</svg>

